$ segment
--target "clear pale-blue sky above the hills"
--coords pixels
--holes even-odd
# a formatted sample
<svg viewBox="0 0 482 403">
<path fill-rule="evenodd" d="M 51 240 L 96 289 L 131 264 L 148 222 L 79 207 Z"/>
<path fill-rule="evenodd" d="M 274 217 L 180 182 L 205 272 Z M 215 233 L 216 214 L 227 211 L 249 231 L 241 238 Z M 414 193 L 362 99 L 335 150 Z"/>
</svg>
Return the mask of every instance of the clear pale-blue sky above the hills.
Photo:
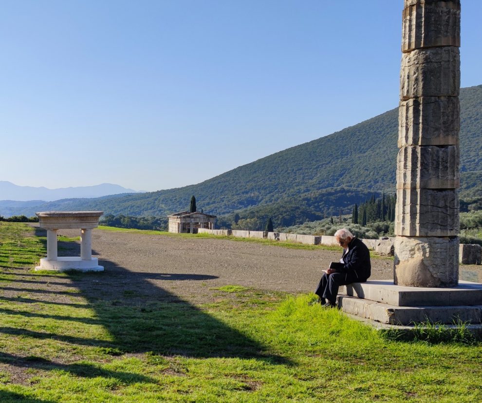
<svg viewBox="0 0 482 403">
<path fill-rule="evenodd" d="M 0 5 L 16 185 L 181 187 L 398 105 L 403 0 Z M 481 17 L 462 0 L 462 87 L 482 84 Z"/>
</svg>

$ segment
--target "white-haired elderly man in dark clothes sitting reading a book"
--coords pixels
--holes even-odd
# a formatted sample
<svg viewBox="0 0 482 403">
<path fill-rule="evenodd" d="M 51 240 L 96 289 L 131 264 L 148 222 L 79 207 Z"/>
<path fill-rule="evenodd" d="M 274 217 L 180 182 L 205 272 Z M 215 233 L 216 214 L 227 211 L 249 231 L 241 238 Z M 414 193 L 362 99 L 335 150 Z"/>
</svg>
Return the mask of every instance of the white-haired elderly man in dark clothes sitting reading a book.
<svg viewBox="0 0 482 403">
<path fill-rule="evenodd" d="M 343 248 L 343 256 L 339 268 L 326 270 L 316 288 L 316 302 L 324 307 L 336 306 L 336 294 L 340 286 L 364 283 L 371 274 L 370 251 L 367 246 L 346 229 L 337 230 L 334 236 Z"/>
</svg>

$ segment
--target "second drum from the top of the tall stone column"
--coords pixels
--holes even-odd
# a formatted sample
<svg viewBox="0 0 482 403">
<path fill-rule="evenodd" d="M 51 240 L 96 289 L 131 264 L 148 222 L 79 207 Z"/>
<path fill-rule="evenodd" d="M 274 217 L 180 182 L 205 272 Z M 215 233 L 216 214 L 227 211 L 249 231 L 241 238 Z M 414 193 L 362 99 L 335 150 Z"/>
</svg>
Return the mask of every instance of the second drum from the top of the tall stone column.
<svg viewBox="0 0 482 403">
<path fill-rule="evenodd" d="M 417 49 L 402 55 L 400 98 L 459 96 L 459 48 Z"/>
</svg>

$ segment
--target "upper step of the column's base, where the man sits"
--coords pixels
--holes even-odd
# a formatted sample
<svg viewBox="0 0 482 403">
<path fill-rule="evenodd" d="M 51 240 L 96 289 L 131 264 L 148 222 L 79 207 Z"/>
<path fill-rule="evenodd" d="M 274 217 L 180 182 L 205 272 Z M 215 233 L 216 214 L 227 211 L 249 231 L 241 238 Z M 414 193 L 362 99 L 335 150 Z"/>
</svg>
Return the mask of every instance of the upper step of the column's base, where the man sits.
<svg viewBox="0 0 482 403">
<path fill-rule="evenodd" d="M 339 294 L 357 296 L 395 307 L 482 305 L 482 284 L 459 281 L 450 288 L 395 286 L 393 280 L 368 280 L 340 287 Z"/>
</svg>

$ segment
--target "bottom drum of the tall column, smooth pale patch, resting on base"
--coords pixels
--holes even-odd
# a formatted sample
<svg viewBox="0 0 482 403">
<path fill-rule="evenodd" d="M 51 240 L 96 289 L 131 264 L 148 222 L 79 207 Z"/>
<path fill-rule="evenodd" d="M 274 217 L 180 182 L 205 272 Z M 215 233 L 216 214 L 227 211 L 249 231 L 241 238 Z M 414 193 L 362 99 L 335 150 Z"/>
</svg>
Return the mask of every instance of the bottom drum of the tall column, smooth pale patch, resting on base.
<svg viewBox="0 0 482 403">
<path fill-rule="evenodd" d="M 397 236 L 393 275 L 394 283 L 400 286 L 456 286 L 459 238 Z"/>
</svg>

